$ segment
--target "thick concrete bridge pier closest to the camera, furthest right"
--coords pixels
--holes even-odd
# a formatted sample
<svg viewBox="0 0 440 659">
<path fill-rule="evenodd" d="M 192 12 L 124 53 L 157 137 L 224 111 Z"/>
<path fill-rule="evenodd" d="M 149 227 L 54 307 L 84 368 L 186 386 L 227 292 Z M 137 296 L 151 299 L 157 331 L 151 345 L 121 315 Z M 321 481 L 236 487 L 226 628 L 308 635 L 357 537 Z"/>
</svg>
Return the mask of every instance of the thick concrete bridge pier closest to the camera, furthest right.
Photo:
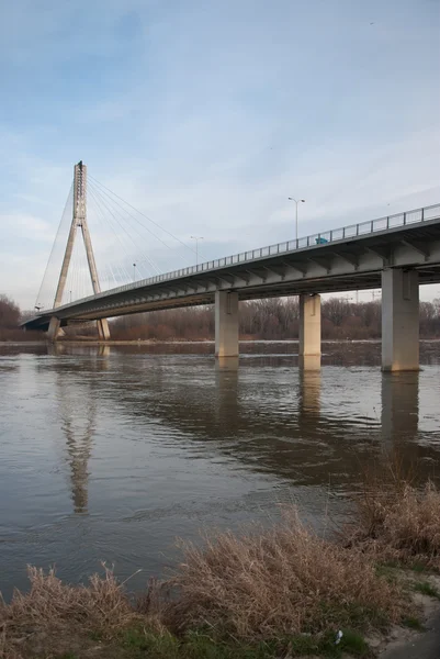
<svg viewBox="0 0 440 659">
<path fill-rule="evenodd" d="M 382 370 L 419 370 L 419 286 L 416 270 L 382 272 Z"/>
</svg>

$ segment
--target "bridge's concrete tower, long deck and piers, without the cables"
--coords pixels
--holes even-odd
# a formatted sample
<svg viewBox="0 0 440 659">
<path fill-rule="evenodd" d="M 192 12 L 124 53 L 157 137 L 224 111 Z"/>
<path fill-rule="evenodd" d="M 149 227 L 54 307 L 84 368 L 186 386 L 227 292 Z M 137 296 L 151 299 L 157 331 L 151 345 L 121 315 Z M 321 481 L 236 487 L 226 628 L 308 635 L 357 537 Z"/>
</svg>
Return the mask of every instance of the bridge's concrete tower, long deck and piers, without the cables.
<svg viewBox="0 0 440 659">
<path fill-rule="evenodd" d="M 215 305 L 215 354 L 238 356 L 238 302 L 300 295 L 300 356 L 320 355 L 320 294 L 382 288 L 382 367 L 419 368 L 419 286 L 440 282 L 440 204 L 351 224 L 295 241 L 226 256 L 101 291 L 87 224 L 87 169 L 75 167 L 74 213 L 52 309 L 24 328 L 46 330 L 161 309 Z M 61 304 L 75 231 L 81 228 L 93 294 Z"/>
</svg>

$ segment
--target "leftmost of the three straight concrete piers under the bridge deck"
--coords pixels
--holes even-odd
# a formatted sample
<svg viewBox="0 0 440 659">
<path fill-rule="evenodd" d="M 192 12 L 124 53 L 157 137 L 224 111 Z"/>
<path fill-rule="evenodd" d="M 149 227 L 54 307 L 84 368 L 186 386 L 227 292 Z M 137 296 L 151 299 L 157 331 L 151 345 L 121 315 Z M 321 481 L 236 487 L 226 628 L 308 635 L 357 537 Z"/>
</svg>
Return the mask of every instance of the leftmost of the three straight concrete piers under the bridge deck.
<svg viewBox="0 0 440 659">
<path fill-rule="evenodd" d="M 215 356 L 238 357 L 238 293 L 215 292 Z"/>
</svg>

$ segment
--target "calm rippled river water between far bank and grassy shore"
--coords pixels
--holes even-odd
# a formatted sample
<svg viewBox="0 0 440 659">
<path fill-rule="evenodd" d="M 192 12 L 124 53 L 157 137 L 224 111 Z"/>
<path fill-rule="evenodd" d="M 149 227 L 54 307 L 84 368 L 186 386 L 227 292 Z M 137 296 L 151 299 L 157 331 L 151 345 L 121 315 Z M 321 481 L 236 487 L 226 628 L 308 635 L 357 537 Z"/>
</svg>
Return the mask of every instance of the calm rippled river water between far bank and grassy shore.
<svg viewBox="0 0 440 659">
<path fill-rule="evenodd" d="M 0 590 L 25 566 L 83 581 L 115 565 L 133 588 L 177 559 L 177 536 L 237 528 L 293 501 L 313 523 L 381 450 L 437 479 L 440 343 L 419 373 L 382 375 L 380 345 L 324 344 L 319 371 L 297 344 L 0 345 Z M 381 459 L 381 458 L 379 458 Z"/>
</svg>

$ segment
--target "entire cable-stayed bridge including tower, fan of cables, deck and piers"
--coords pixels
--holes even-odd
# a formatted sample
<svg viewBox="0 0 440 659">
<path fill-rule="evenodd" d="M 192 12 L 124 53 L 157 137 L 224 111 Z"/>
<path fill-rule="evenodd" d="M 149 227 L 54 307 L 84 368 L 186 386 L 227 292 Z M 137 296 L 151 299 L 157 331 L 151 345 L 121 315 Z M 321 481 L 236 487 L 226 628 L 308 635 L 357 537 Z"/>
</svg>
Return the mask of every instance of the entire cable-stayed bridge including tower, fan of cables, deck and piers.
<svg viewBox="0 0 440 659">
<path fill-rule="evenodd" d="M 110 226 L 117 248 L 121 244 L 126 252 L 129 245 L 128 254 L 135 255 L 129 261 L 105 261 L 98 253 L 95 256 L 93 248 L 100 243 L 94 241 L 92 246 L 90 206 L 105 230 L 106 241 Z M 79 231 L 82 241 L 76 239 Z M 100 337 L 105 340 L 110 337 L 108 317 L 214 303 L 216 355 L 235 357 L 239 300 L 298 294 L 300 355 L 316 366 L 320 355 L 319 294 L 382 288 L 383 368 L 418 369 L 419 284 L 440 282 L 440 204 L 165 273 L 160 273 L 160 264 L 151 254 L 143 252 L 151 237 L 167 249 L 183 247 L 187 258 L 188 253 L 193 257 L 182 241 L 92 177 L 88 180 L 82 163 L 76 165 L 38 292 L 37 313 L 23 326 L 47 330 L 48 338 L 56 340 L 65 325 L 97 321 Z M 64 255 L 59 266 L 56 253 L 60 246 Z M 144 278 L 151 269 L 158 272 Z M 102 281 L 108 290 L 103 290 Z"/>
</svg>

